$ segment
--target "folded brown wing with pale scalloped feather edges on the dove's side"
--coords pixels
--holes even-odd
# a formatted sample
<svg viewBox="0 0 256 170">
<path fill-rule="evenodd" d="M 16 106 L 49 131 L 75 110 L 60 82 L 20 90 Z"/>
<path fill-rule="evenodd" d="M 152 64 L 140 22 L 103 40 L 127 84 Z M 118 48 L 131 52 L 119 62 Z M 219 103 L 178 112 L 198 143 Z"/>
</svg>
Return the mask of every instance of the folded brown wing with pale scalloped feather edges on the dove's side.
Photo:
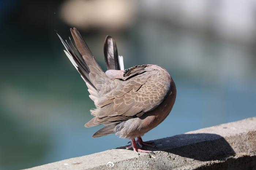
<svg viewBox="0 0 256 170">
<path fill-rule="evenodd" d="M 97 109 L 93 110 L 95 117 L 85 126 L 111 124 L 142 116 L 153 110 L 165 98 L 170 80 L 160 78 L 159 70 L 147 70 L 136 67 L 129 71 L 126 80 L 115 79 L 117 86 L 105 96 L 94 101 Z"/>
</svg>

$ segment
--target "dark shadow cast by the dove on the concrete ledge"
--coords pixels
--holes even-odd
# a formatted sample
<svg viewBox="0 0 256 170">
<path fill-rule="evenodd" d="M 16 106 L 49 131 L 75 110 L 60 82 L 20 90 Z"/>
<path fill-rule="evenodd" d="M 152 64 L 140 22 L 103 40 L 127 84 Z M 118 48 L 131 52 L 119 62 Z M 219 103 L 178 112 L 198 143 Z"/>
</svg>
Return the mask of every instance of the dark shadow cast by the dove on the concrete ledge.
<svg viewBox="0 0 256 170">
<path fill-rule="evenodd" d="M 166 151 L 199 161 L 220 160 L 227 155 L 235 154 L 229 143 L 217 134 L 181 134 L 152 142 L 155 142 L 157 148 L 145 147 L 144 149 Z M 124 149 L 124 147 L 118 149 Z"/>
</svg>

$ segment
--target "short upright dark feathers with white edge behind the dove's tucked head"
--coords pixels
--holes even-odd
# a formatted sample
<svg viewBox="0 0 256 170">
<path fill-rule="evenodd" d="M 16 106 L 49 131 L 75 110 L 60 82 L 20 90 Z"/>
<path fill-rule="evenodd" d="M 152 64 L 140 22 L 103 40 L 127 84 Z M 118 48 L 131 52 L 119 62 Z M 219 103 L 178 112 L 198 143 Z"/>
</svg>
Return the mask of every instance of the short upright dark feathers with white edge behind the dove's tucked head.
<svg viewBox="0 0 256 170">
<path fill-rule="evenodd" d="M 105 39 L 104 56 L 108 70 L 124 70 L 123 56 L 118 56 L 116 41 L 111 36 Z"/>
</svg>

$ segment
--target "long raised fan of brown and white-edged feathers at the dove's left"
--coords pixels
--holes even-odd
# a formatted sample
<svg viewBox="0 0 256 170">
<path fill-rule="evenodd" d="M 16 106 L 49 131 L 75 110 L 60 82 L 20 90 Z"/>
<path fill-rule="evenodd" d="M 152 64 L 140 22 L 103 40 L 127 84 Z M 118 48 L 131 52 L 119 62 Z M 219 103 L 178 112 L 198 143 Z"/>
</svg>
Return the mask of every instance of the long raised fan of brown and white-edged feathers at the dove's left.
<svg viewBox="0 0 256 170">
<path fill-rule="evenodd" d="M 101 90 L 101 84 L 105 83 L 104 80 L 107 76 L 97 63 L 78 30 L 76 28 L 71 28 L 70 31 L 75 41 L 74 45 L 69 38 L 73 48 L 69 46 L 67 40 L 64 41 L 58 34 L 57 35 L 65 47 L 65 54 L 86 82 L 91 94 L 90 97 L 95 100 L 95 98 L 99 97 L 98 92 Z M 99 81 L 99 79 L 101 81 Z"/>
</svg>

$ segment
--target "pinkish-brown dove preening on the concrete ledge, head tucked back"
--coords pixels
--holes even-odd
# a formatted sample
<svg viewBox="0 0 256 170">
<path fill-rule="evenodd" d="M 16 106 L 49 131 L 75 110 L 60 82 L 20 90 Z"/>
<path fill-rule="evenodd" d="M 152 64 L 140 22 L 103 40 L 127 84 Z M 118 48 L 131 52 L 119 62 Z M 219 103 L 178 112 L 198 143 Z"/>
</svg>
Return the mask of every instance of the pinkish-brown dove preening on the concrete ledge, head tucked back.
<svg viewBox="0 0 256 170">
<path fill-rule="evenodd" d="M 95 107 L 94 117 L 85 127 L 103 124 L 93 137 L 116 134 L 130 139 L 135 153 L 153 153 L 144 146 L 142 136 L 155 128 L 170 114 L 176 100 L 176 85 L 165 68 L 154 64 L 136 65 L 124 69 L 123 56 L 118 56 L 116 41 L 107 36 L 103 53 L 108 70 L 104 72 L 83 40 L 78 29 L 70 28 L 74 43 L 61 40 L 65 54 L 86 83 Z M 137 140 L 135 140 L 137 138 Z M 129 142 L 128 142 L 129 143 Z M 138 144 L 139 146 L 137 146 Z"/>
</svg>

